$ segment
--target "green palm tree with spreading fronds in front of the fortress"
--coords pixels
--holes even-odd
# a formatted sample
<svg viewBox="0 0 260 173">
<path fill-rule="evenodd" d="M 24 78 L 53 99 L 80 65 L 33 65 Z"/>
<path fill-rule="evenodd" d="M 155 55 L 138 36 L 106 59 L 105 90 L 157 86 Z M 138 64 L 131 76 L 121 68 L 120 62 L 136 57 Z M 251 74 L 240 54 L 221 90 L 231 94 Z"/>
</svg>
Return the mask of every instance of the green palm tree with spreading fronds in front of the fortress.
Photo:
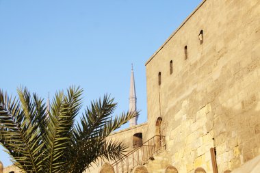
<svg viewBox="0 0 260 173">
<path fill-rule="evenodd" d="M 18 98 L 0 90 L 0 144 L 12 162 L 25 172 L 79 173 L 99 159 L 122 157 L 126 146 L 106 137 L 136 116 L 122 113 L 112 119 L 114 98 L 92 101 L 75 123 L 83 90 L 70 87 L 55 94 L 50 110 L 37 94 L 18 89 Z"/>
</svg>

